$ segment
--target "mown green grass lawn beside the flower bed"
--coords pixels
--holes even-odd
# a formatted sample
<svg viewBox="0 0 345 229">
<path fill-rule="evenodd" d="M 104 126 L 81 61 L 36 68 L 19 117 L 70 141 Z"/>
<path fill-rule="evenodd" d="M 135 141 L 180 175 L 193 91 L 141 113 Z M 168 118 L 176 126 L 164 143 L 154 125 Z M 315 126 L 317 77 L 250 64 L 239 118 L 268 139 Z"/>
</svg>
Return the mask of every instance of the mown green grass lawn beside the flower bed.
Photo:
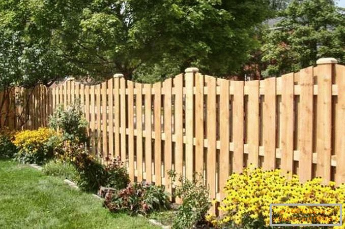
<svg viewBox="0 0 345 229">
<path fill-rule="evenodd" d="M 0 228 L 159 228 L 113 214 L 89 193 L 27 165 L 0 160 Z"/>
</svg>

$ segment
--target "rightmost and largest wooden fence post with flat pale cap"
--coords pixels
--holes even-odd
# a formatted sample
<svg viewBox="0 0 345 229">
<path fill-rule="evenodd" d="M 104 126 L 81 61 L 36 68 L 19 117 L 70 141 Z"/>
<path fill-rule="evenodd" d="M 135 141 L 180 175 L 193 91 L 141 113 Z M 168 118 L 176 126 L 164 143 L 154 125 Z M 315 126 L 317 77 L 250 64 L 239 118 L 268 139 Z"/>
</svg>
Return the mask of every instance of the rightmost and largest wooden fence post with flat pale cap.
<svg viewBox="0 0 345 229">
<path fill-rule="evenodd" d="M 318 104 L 317 104 L 317 176 L 327 184 L 331 179 L 332 147 L 332 77 L 335 58 L 317 60 Z"/>
</svg>

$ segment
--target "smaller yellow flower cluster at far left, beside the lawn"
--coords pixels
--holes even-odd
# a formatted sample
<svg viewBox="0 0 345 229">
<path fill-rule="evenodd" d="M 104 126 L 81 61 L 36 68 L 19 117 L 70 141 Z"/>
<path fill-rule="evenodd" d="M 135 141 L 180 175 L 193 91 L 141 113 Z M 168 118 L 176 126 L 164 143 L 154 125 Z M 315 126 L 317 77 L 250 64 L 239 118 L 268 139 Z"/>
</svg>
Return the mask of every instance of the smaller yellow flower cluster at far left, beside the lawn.
<svg viewBox="0 0 345 229">
<path fill-rule="evenodd" d="M 15 135 L 13 144 L 26 152 L 37 152 L 56 132 L 49 128 L 23 130 Z"/>
</svg>

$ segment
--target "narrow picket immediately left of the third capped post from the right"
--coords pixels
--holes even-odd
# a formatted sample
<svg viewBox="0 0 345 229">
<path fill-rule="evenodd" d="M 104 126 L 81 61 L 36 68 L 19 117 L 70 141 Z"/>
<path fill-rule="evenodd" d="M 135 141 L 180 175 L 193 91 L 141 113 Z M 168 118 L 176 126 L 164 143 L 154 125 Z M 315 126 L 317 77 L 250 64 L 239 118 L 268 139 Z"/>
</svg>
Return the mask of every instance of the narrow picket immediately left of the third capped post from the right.
<svg viewBox="0 0 345 229">
<path fill-rule="evenodd" d="M 114 100 L 113 100 L 113 78 L 108 80 L 108 125 L 109 125 L 109 148 L 108 148 L 108 156 L 109 159 L 113 159 L 114 157 Z"/>
</svg>

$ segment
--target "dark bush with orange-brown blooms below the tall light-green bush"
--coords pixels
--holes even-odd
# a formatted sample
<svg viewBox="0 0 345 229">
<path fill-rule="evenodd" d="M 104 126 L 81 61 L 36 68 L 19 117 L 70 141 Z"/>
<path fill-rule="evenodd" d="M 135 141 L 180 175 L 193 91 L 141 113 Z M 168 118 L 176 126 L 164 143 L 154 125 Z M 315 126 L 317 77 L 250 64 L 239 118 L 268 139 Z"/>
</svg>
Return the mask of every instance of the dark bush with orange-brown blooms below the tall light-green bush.
<svg viewBox="0 0 345 229">
<path fill-rule="evenodd" d="M 63 161 L 72 163 L 79 173 L 80 188 L 86 191 L 96 192 L 107 181 L 107 173 L 104 166 L 88 153 L 83 145 L 66 141 L 63 147 Z"/>
</svg>

